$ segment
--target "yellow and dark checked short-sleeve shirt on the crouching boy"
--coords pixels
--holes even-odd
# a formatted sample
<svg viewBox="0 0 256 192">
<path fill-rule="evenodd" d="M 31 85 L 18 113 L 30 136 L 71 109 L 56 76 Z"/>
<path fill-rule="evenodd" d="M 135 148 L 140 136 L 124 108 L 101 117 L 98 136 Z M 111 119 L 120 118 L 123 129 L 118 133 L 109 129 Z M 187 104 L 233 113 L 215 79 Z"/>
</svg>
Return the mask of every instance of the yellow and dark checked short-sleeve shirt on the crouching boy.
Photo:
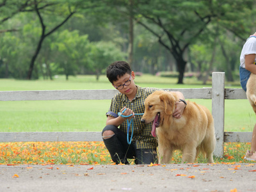
<svg viewBox="0 0 256 192">
<path fill-rule="evenodd" d="M 133 100 L 129 100 L 123 93 L 116 93 L 116 95 L 111 100 L 111 106 L 106 115 L 116 118 L 118 117 L 118 112 L 120 112 L 120 110 L 124 107 L 132 109 L 134 113 L 144 113 L 145 99 L 148 97 L 148 95 L 159 89 L 141 88 L 140 86 L 137 86 L 137 88 L 138 90 Z M 132 136 L 132 142 L 136 142 L 136 148 L 157 148 L 156 138 L 154 138 L 151 134 L 152 124 L 143 124 L 140 120 L 141 115 L 135 115 L 133 118 L 134 131 Z M 120 125 L 119 129 L 127 134 L 126 120 Z M 131 136 L 131 129 L 132 127 L 129 129 L 129 136 Z"/>
</svg>

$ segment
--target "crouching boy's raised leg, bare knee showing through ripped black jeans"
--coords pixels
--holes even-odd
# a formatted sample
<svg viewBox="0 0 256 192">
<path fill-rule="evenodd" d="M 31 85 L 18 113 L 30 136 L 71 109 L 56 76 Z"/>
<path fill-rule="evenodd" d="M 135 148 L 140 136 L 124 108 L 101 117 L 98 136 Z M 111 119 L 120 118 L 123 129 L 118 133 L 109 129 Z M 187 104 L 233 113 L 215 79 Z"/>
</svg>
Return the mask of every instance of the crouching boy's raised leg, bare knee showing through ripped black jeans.
<svg viewBox="0 0 256 192">
<path fill-rule="evenodd" d="M 102 138 L 106 148 L 108 148 L 111 159 L 116 164 L 129 164 L 127 158 L 134 158 L 133 145 L 128 145 L 126 134 L 115 125 L 107 125 L 102 131 Z"/>
</svg>

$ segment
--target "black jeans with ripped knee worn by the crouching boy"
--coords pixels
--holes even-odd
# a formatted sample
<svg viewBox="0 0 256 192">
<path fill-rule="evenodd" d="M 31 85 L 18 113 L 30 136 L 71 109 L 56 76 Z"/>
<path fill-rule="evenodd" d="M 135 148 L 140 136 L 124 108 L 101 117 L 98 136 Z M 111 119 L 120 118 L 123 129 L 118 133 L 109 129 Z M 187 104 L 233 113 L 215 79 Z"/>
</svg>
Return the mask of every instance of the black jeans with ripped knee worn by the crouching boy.
<svg viewBox="0 0 256 192">
<path fill-rule="evenodd" d="M 131 145 L 129 145 L 127 143 L 127 135 L 115 125 L 107 125 L 102 134 L 104 131 L 113 131 L 115 133 L 111 138 L 103 138 L 103 141 L 106 148 L 108 148 L 112 161 L 116 164 L 129 164 L 127 159 L 135 159 L 135 164 L 157 163 L 156 148 L 136 148 L 135 141 L 132 141 Z"/>
</svg>

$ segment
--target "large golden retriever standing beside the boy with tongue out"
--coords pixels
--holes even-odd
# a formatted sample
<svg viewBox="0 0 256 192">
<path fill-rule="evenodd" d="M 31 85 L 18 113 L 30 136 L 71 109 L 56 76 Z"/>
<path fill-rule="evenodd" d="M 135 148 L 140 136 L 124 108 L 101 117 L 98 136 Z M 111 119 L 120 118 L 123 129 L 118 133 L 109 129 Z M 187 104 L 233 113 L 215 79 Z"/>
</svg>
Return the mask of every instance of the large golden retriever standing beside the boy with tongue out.
<svg viewBox="0 0 256 192">
<path fill-rule="evenodd" d="M 209 109 L 188 100 L 180 118 L 173 118 L 176 93 L 156 91 L 145 99 L 141 122 L 152 122 L 152 135 L 157 136 L 159 164 L 170 163 L 174 150 L 182 150 L 182 163 L 194 163 L 199 152 L 214 163 L 214 122 Z"/>
</svg>

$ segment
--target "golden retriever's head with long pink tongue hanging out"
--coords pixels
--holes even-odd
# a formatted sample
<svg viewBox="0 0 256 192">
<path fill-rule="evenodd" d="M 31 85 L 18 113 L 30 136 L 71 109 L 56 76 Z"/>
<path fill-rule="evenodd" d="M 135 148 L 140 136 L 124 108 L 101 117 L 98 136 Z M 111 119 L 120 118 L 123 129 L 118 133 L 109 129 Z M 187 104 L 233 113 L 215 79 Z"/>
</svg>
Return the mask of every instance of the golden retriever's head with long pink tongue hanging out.
<svg viewBox="0 0 256 192">
<path fill-rule="evenodd" d="M 172 116 L 175 109 L 175 97 L 170 92 L 156 91 L 145 99 L 145 113 L 141 122 L 152 122 L 152 136 L 156 137 L 156 127 L 161 127 L 164 117 Z"/>
</svg>

